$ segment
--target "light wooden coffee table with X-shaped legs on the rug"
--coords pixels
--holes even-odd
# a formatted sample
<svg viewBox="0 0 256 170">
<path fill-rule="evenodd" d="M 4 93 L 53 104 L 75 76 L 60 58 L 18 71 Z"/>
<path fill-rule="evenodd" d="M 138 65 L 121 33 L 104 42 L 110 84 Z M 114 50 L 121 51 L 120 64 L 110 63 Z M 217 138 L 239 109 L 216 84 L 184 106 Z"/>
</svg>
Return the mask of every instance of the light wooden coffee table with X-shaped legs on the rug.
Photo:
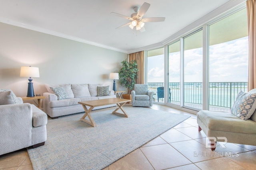
<svg viewBox="0 0 256 170">
<path fill-rule="evenodd" d="M 92 127 L 96 127 L 97 125 L 96 125 L 95 121 L 92 119 L 92 116 L 90 115 L 90 112 L 92 111 L 92 109 L 94 107 L 106 106 L 106 105 L 110 105 L 110 104 L 116 104 L 118 106 L 118 108 L 116 108 L 112 113 L 117 114 L 117 115 L 122 115 L 124 117 L 129 117 L 129 115 L 122 108 L 122 106 L 124 106 L 124 104 L 126 104 L 126 102 L 131 102 L 131 100 L 120 99 L 120 98 L 109 98 L 109 99 L 100 99 L 100 100 L 90 100 L 90 101 L 85 101 L 85 102 L 78 102 L 78 104 L 82 104 L 82 106 L 84 107 L 84 110 L 85 110 L 85 114 L 80 119 L 80 121 L 84 121 L 84 122 L 92 125 Z M 86 106 L 89 106 L 90 108 L 87 109 Z M 118 113 L 117 112 L 118 109 L 121 109 L 123 113 Z M 88 117 L 89 120 L 85 119 L 86 117 Z"/>
</svg>

